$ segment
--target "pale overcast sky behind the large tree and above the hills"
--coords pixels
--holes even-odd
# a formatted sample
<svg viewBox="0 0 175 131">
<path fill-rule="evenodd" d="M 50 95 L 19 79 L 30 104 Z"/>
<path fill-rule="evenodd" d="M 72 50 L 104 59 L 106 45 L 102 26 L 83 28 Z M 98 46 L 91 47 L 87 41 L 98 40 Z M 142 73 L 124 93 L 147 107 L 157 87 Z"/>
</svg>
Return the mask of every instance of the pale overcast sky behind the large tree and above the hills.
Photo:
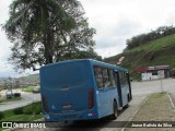
<svg viewBox="0 0 175 131">
<path fill-rule="evenodd" d="M 9 17 L 12 0 L 0 0 L 0 24 Z M 95 51 L 103 58 L 122 52 L 126 40 L 163 25 L 175 25 L 175 0 L 80 0 L 91 27 L 96 29 Z M 0 78 L 20 76 L 8 63 L 12 43 L 0 28 Z M 117 61 L 117 60 L 116 60 Z"/>
</svg>

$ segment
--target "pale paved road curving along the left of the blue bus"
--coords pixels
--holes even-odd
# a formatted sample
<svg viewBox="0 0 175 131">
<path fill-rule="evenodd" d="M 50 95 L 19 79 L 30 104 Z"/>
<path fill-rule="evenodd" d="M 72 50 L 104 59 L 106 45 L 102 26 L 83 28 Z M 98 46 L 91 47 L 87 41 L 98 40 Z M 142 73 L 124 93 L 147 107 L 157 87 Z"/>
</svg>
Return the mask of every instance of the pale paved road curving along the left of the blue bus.
<svg viewBox="0 0 175 131">
<path fill-rule="evenodd" d="M 14 93 L 15 91 L 13 91 Z M 35 100 L 39 100 L 40 99 L 40 94 L 33 94 L 33 93 L 25 93 L 25 92 L 21 92 L 21 91 L 18 91 L 21 93 L 21 96 L 22 96 L 22 100 L 18 100 L 18 102 L 9 102 L 7 104 L 0 104 L 0 111 L 3 111 L 3 110 L 8 110 L 8 109 L 14 109 L 14 108 L 18 108 L 18 107 L 22 107 L 22 106 L 26 106 Z M 5 94 L 5 91 L 3 91 L 1 93 L 3 96 Z"/>
</svg>

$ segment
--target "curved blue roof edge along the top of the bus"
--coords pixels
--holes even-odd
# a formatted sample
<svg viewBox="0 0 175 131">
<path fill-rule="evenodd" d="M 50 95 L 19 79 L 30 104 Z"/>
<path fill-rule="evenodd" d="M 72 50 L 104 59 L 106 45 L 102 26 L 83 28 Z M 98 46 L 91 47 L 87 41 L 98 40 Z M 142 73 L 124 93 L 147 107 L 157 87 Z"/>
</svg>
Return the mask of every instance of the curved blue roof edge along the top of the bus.
<svg viewBox="0 0 175 131">
<path fill-rule="evenodd" d="M 46 64 L 45 67 L 42 67 L 40 69 L 57 66 L 57 64 L 80 62 L 80 61 L 90 61 L 91 63 L 96 64 L 96 66 L 108 67 L 108 68 L 113 68 L 114 70 L 128 72 L 128 70 L 125 69 L 125 68 L 120 68 L 120 67 L 115 66 L 115 64 L 109 64 L 109 63 L 105 63 L 105 62 L 93 60 L 93 59 L 72 59 L 72 60 L 59 61 L 59 62 L 56 62 L 56 63 Z"/>
</svg>

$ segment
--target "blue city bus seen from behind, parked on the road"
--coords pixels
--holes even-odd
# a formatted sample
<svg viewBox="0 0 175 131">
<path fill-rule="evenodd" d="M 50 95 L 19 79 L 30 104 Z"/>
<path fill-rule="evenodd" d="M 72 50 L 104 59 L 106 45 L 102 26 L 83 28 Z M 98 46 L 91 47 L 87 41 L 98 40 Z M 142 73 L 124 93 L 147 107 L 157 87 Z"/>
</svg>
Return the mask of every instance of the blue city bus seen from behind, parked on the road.
<svg viewBox="0 0 175 131">
<path fill-rule="evenodd" d="M 45 121 L 116 119 L 132 99 L 128 71 L 113 64 L 68 60 L 45 66 L 39 74 Z"/>
</svg>

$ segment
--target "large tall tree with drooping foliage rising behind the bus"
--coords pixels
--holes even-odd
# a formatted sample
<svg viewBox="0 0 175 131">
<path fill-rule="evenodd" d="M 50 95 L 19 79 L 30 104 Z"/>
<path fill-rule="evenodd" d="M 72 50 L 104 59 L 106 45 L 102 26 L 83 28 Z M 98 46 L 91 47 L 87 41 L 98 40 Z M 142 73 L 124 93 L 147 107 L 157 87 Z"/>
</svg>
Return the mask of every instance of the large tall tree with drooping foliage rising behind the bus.
<svg viewBox="0 0 175 131">
<path fill-rule="evenodd" d="M 14 44 L 9 59 L 16 69 L 35 69 L 60 60 L 66 53 L 94 46 L 77 0 L 15 0 L 3 28 Z"/>
</svg>

